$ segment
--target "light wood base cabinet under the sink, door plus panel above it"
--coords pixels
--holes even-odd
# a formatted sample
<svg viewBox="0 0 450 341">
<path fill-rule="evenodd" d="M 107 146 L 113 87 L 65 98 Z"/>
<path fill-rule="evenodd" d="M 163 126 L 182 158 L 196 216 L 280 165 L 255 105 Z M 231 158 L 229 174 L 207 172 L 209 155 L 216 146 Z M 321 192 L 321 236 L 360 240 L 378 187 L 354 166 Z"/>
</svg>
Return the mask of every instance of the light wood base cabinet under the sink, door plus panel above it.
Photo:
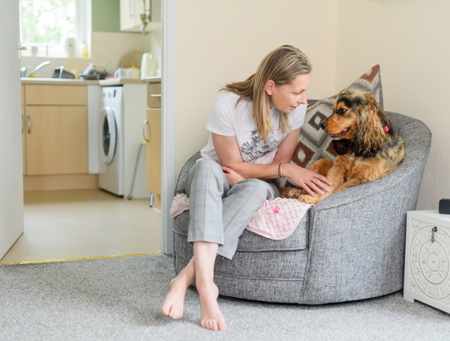
<svg viewBox="0 0 450 341">
<path fill-rule="evenodd" d="M 25 84 L 24 174 L 87 174 L 86 86 Z"/>
</svg>

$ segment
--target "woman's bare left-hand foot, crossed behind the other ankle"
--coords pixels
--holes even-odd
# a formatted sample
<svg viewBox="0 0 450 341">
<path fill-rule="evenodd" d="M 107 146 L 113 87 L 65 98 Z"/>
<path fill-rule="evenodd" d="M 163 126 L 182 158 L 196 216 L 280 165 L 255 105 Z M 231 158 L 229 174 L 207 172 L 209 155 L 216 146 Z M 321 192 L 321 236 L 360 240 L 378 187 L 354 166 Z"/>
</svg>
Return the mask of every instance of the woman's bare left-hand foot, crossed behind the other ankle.
<svg viewBox="0 0 450 341">
<path fill-rule="evenodd" d="M 183 316 L 184 309 L 184 296 L 188 286 L 193 282 L 189 276 L 180 272 L 169 283 L 169 293 L 167 294 L 164 303 L 162 304 L 161 311 L 165 316 L 170 316 L 172 319 L 179 319 Z"/>
</svg>

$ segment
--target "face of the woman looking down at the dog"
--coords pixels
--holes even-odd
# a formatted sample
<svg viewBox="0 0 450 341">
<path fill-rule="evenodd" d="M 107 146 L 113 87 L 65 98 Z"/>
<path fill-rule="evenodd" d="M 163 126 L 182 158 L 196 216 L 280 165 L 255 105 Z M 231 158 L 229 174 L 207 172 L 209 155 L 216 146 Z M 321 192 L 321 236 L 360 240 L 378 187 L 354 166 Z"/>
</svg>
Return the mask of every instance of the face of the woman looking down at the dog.
<svg viewBox="0 0 450 341">
<path fill-rule="evenodd" d="M 311 75 L 295 77 L 291 84 L 276 85 L 269 80 L 266 85 L 266 93 L 269 95 L 270 108 L 277 108 L 281 112 L 290 114 L 300 104 L 307 103 L 307 89 L 311 82 Z"/>
</svg>

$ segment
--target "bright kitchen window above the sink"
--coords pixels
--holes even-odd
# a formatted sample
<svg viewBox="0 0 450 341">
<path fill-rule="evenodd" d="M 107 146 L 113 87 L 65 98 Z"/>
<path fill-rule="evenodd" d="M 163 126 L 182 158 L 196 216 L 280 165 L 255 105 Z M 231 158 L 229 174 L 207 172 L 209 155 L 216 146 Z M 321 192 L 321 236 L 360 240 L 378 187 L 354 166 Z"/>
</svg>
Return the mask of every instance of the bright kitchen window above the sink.
<svg viewBox="0 0 450 341">
<path fill-rule="evenodd" d="M 20 41 L 22 56 L 81 58 L 84 41 L 90 54 L 91 0 L 20 0 Z"/>
</svg>

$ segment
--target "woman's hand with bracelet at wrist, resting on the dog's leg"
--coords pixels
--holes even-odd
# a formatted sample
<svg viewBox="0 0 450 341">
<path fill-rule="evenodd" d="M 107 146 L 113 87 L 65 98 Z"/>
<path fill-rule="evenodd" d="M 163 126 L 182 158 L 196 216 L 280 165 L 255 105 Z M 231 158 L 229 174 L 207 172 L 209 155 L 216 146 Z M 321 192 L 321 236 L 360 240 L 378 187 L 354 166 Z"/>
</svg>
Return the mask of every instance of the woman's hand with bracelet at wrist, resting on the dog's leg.
<svg viewBox="0 0 450 341">
<path fill-rule="evenodd" d="M 283 167 L 285 167 L 285 169 L 283 169 L 283 175 L 288 176 L 288 178 L 292 180 L 294 184 L 303 188 L 313 197 L 316 196 L 316 193 L 319 193 L 320 195 L 324 194 L 321 188 L 329 192 L 330 189 L 328 188 L 328 186 L 326 186 L 326 184 L 328 184 L 329 186 L 333 185 L 333 183 L 330 180 L 326 179 L 325 176 L 312 172 L 309 169 L 304 169 L 300 166 L 292 165 L 289 163 L 283 164 Z M 316 193 L 311 190 L 316 191 Z"/>
</svg>

